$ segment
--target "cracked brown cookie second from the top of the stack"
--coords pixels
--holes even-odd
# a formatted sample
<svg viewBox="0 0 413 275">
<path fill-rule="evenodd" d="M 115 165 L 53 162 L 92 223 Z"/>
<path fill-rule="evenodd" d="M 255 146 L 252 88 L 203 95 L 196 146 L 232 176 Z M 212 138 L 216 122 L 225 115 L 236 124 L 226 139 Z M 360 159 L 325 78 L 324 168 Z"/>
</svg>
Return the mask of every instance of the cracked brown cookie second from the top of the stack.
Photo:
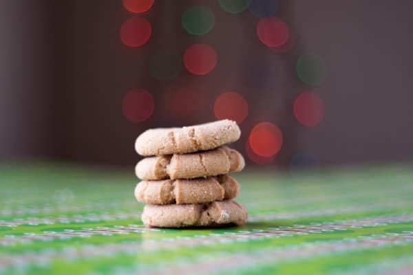
<svg viewBox="0 0 413 275">
<path fill-rule="evenodd" d="M 245 166 L 244 157 L 227 146 L 212 151 L 146 157 L 136 164 L 140 179 L 192 179 L 238 172 Z"/>
</svg>

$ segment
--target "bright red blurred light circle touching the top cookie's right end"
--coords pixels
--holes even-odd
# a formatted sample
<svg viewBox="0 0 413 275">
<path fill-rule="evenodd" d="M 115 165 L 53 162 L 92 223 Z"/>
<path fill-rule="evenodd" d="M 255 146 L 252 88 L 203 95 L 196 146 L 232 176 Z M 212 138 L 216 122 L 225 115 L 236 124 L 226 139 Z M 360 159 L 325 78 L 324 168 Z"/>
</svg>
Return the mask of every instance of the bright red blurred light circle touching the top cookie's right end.
<svg viewBox="0 0 413 275">
<path fill-rule="evenodd" d="M 241 124 L 248 115 L 248 103 L 243 96 L 231 91 L 218 96 L 213 105 L 213 113 L 218 120 L 228 118 Z"/>
</svg>

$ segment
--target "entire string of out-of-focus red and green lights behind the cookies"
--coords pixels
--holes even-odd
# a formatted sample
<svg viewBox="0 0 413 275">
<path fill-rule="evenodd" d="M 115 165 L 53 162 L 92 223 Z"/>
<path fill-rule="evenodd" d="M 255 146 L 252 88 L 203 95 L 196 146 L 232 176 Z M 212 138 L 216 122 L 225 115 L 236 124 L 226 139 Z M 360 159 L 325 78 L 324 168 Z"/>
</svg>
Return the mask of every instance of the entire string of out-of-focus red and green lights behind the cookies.
<svg viewBox="0 0 413 275">
<path fill-rule="evenodd" d="M 142 17 L 153 7 L 154 0 L 123 0 L 125 9 L 138 16 L 131 17 L 120 28 L 120 40 L 128 47 L 142 47 L 149 41 L 152 28 L 151 23 Z M 279 0 L 219 0 L 220 8 L 231 16 L 240 16 L 249 10 L 257 19 L 257 39 L 274 54 L 290 52 L 295 46 L 297 36 L 292 32 L 286 22 L 277 17 L 282 8 Z M 215 28 L 215 13 L 205 5 L 192 5 L 181 14 L 181 24 L 189 36 L 206 36 Z M 195 41 L 186 45 L 182 56 L 178 51 L 169 48 L 158 49 L 149 57 L 148 71 L 156 80 L 172 80 L 181 73 L 182 65 L 190 74 L 204 76 L 213 72 L 218 65 L 218 52 L 209 43 Z M 293 115 L 301 126 L 317 126 L 324 120 L 325 108 L 315 87 L 323 85 L 326 81 L 326 63 L 321 56 L 315 54 L 302 54 L 296 63 L 297 78 L 311 91 L 298 91 L 299 94 L 293 102 Z M 200 95 L 190 89 L 179 89 L 169 93 L 169 102 L 173 107 L 171 113 L 182 120 L 191 116 L 190 113 L 198 111 L 199 104 L 195 99 Z M 193 110 L 188 109 L 190 100 Z M 175 102 L 175 103 L 173 103 Z M 182 104 L 183 103 L 183 104 Z M 202 104 L 202 103 L 201 103 Z M 153 96 L 144 89 L 129 91 L 123 98 L 123 114 L 131 122 L 147 120 L 154 109 Z M 182 111 L 184 110 L 184 111 Z M 248 118 L 248 101 L 236 91 L 223 91 L 218 94 L 213 102 L 213 114 L 217 119 L 229 118 L 242 124 Z M 181 115 L 178 115 L 181 113 Z M 257 164 L 273 162 L 282 149 L 282 131 L 273 122 L 260 122 L 251 129 L 246 140 L 245 150 L 248 158 Z M 291 166 L 297 163 L 316 163 L 315 155 L 296 153 L 291 160 Z M 303 160 L 304 159 L 304 160 Z M 313 161 L 314 160 L 314 161 Z M 302 162 L 301 162 L 302 161 Z M 319 163 L 319 160 L 318 162 Z M 301 165 L 301 164 L 300 164 Z M 302 165 L 301 165 L 302 166 Z"/>
</svg>

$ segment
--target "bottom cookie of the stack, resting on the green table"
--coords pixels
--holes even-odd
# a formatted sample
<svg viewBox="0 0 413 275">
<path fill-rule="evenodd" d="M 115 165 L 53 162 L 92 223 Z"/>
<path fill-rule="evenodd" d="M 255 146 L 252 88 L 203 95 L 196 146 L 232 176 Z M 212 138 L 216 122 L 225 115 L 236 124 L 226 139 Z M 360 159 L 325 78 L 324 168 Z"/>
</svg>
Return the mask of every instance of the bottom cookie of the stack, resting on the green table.
<svg viewBox="0 0 413 275">
<path fill-rule="evenodd" d="M 147 204 L 142 212 L 143 223 L 158 228 L 243 225 L 246 218 L 244 206 L 232 200 L 163 206 Z"/>
</svg>

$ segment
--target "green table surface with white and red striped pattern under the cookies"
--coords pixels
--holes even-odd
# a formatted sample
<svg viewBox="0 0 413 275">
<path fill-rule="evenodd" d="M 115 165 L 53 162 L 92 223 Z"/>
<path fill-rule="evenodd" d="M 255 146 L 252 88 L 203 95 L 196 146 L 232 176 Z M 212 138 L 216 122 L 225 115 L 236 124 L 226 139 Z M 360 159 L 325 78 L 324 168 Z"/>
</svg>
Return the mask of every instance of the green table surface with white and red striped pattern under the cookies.
<svg viewBox="0 0 413 275">
<path fill-rule="evenodd" d="M 0 274 L 413 274 L 412 166 L 234 177 L 246 225 L 150 229 L 133 169 L 0 166 Z"/>
</svg>

